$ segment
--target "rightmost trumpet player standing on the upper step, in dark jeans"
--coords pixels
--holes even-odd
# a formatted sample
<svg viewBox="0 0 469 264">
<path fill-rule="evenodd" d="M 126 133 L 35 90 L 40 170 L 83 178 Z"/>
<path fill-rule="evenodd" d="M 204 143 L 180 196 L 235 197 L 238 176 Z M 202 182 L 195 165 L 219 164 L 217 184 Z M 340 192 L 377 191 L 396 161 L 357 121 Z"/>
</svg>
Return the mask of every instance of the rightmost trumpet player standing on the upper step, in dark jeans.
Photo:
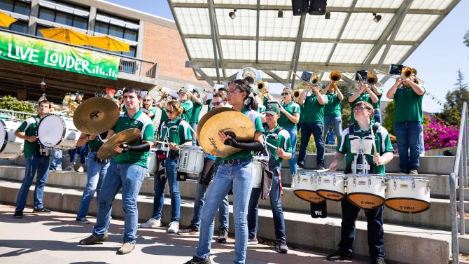
<svg viewBox="0 0 469 264">
<path fill-rule="evenodd" d="M 386 94 L 395 102 L 394 132 L 400 172 L 405 174 L 419 174 L 424 94 L 425 88 L 418 83 L 414 73 L 407 79 L 397 78 Z"/>
</svg>

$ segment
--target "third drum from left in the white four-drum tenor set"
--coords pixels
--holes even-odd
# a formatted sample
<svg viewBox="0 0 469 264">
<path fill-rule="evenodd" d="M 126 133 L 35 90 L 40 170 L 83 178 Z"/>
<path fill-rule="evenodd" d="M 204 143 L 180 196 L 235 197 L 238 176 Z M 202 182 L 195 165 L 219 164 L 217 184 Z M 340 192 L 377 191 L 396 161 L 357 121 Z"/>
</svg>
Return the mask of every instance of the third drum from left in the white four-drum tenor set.
<svg viewBox="0 0 469 264">
<path fill-rule="evenodd" d="M 362 209 L 373 209 L 384 204 L 386 182 L 375 174 L 347 175 L 347 199 Z"/>
</svg>

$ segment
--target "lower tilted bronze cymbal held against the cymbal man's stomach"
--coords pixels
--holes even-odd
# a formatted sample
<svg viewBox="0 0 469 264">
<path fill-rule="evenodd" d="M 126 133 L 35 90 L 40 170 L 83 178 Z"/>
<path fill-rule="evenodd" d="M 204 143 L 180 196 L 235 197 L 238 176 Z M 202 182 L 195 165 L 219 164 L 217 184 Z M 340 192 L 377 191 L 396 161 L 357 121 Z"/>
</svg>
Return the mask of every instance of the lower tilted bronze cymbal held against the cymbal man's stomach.
<svg viewBox="0 0 469 264">
<path fill-rule="evenodd" d="M 113 135 L 101 148 L 99 148 L 97 156 L 99 159 L 106 160 L 119 155 L 117 151 L 114 151 L 115 146 L 120 144 L 132 144 L 141 136 L 141 132 L 137 128 L 129 128 Z"/>
</svg>

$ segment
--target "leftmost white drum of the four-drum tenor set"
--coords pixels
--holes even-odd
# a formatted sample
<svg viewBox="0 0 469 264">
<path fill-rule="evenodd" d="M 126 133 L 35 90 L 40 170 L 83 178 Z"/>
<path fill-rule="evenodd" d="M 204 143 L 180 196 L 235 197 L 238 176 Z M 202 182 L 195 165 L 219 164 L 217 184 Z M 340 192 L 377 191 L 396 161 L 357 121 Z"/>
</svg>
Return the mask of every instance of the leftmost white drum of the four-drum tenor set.
<svg viewBox="0 0 469 264">
<path fill-rule="evenodd" d="M 318 204 L 325 199 L 316 193 L 317 174 L 316 172 L 300 172 L 293 176 L 292 181 L 295 181 L 295 195 L 307 202 Z"/>
</svg>

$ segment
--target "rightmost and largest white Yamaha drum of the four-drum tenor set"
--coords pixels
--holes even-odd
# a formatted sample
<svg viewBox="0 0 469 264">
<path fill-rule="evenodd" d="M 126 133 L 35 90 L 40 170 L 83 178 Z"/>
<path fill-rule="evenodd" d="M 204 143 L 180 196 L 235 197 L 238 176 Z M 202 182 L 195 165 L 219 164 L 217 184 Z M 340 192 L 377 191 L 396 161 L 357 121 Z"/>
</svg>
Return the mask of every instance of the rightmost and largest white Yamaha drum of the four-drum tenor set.
<svg viewBox="0 0 469 264">
<path fill-rule="evenodd" d="M 386 207 L 416 214 L 430 208 L 430 181 L 421 177 L 390 177 L 386 180 Z"/>
</svg>

